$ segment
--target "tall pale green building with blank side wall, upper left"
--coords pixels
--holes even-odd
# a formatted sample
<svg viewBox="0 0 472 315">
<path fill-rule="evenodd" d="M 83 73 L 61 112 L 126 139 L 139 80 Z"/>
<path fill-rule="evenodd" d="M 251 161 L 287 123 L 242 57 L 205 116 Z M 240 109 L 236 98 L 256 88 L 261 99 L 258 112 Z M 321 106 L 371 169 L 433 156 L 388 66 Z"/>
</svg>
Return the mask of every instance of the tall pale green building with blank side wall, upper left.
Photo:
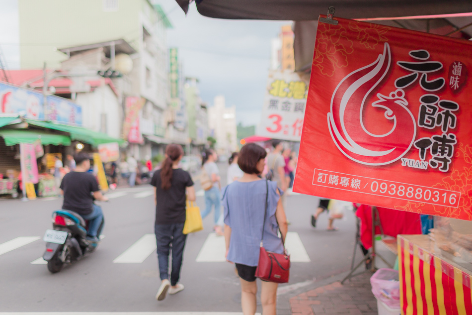
<svg viewBox="0 0 472 315">
<path fill-rule="evenodd" d="M 74 14 L 61 13 L 71 11 Z M 41 68 L 44 62 L 48 68 L 58 68 L 61 62 L 104 43 L 110 45 L 102 45 L 102 65 L 96 70 L 115 70 L 120 55 L 127 55 L 132 69 L 124 78 L 113 79 L 122 105 L 116 123 L 121 126 L 129 120 L 127 98 L 145 100 L 139 103 L 139 114 L 133 115 L 141 136 L 130 141 L 122 134 L 129 141 L 127 153 L 137 159 L 163 153 L 165 144 L 173 141 L 173 133 L 167 131 L 171 117 L 166 29 L 171 24 L 159 5 L 149 0 L 18 0 L 18 13 L 22 68 Z M 128 52 L 111 44 L 117 39 L 127 43 Z M 42 45 L 29 46 L 31 42 Z M 184 138 L 180 142 L 187 140 L 180 138 Z"/>
</svg>

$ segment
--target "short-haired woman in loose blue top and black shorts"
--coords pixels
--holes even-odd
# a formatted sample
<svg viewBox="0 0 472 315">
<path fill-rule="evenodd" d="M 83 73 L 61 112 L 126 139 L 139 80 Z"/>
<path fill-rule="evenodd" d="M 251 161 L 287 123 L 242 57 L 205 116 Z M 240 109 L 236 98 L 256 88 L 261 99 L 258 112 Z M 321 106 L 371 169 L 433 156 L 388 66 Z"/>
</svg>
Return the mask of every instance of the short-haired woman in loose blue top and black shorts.
<svg viewBox="0 0 472 315">
<path fill-rule="evenodd" d="M 259 245 L 264 229 L 264 247 L 282 254 L 287 235 L 287 218 L 276 182 L 259 175 L 264 170 L 266 151 L 254 143 L 246 144 L 239 152 L 237 164 L 244 175 L 226 188 L 225 207 L 226 259 L 236 264 L 241 283 L 241 306 L 244 315 L 256 312 L 256 277 Z M 266 195 L 267 218 L 264 222 Z M 280 228 L 282 239 L 277 236 Z M 262 314 L 276 314 L 277 283 L 262 282 Z"/>
</svg>

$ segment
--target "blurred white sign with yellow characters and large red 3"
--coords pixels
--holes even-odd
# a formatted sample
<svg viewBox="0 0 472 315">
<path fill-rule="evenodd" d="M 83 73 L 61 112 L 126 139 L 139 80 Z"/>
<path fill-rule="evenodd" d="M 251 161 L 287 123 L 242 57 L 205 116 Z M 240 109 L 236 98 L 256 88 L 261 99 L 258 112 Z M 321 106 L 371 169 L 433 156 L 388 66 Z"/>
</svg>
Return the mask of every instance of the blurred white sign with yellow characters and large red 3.
<svg viewBox="0 0 472 315">
<path fill-rule="evenodd" d="M 258 135 L 300 141 L 308 82 L 307 74 L 291 71 L 269 72 Z"/>
</svg>

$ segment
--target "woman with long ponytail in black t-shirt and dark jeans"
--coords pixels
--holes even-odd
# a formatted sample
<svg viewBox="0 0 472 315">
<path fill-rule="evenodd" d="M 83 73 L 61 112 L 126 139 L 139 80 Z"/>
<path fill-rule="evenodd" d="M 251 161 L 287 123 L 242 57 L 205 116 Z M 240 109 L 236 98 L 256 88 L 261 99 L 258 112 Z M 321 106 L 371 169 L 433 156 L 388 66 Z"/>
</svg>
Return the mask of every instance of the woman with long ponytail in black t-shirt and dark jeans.
<svg viewBox="0 0 472 315">
<path fill-rule="evenodd" d="M 189 201 L 195 201 L 196 197 L 190 174 L 178 167 L 182 157 L 182 147 L 178 144 L 169 144 L 165 148 L 165 160 L 162 162 L 162 167 L 154 173 L 151 180 L 155 192 L 156 224 L 154 229 L 161 280 L 156 295 L 157 301 L 165 299 L 167 292 L 175 294 L 184 289 L 178 281 L 187 238 L 187 235 L 182 232 L 185 223 L 185 200 L 187 198 Z M 169 281 L 170 248 L 172 248 L 172 270 Z"/>
</svg>

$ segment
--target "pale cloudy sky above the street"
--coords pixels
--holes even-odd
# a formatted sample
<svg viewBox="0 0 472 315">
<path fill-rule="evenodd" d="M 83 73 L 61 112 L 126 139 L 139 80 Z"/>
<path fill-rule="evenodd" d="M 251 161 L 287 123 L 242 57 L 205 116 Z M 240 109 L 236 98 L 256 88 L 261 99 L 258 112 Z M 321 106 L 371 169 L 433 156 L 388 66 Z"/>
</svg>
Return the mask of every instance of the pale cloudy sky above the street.
<svg viewBox="0 0 472 315">
<path fill-rule="evenodd" d="M 223 20 L 198 13 L 187 16 L 174 0 L 156 0 L 172 24 L 167 46 L 177 47 L 184 75 L 199 79 L 204 102 L 223 95 L 236 106 L 236 120 L 257 125 L 270 66 L 270 43 L 291 21 Z M 19 68 L 17 0 L 1 0 L 0 54 L 7 69 Z"/>
</svg>

